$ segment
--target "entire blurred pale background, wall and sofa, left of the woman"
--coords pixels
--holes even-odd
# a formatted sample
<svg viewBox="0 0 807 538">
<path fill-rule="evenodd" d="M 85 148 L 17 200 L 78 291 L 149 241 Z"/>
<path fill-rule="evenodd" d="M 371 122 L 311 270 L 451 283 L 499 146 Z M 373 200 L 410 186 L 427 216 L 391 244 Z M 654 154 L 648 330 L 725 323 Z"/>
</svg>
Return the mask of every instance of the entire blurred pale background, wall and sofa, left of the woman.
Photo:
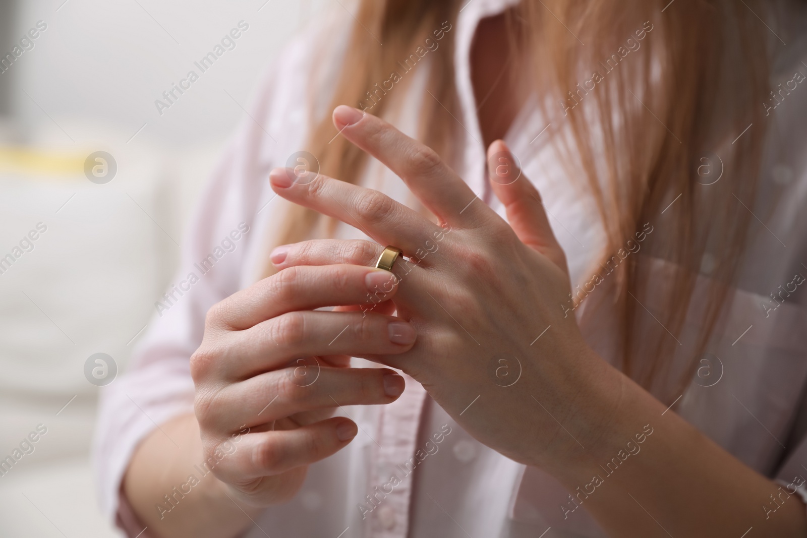
<svg viewBox="0 0 807 538">
<path fill-rule="evenodd" d="M 94 491 L 96 385 L 125 371 L 257 81 L 330 3 L 0 0 L 0 464 L 22 454 L 0 466 L 0 536 L 122 536 Z"/>
</svg>

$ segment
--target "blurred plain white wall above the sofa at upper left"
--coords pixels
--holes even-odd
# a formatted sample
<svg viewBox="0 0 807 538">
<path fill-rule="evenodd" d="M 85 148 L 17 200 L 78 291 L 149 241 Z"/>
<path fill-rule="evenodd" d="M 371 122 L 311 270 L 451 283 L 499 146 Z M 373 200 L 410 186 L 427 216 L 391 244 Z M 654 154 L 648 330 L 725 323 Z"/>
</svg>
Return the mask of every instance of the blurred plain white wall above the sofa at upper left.
<svg viewBox="0 0 807 538">
<path fill-rule="evenodd" d="M 23 53 L 14 66 L 18 73 L 13 102 L 23 127 L 52 125 L 24 91 L 57 122 L 111 123 L 119 127 L 124 141 L 146 123 L 138 137 L 159 140 L 167 148 L 227 136 L 244 114 L 240 106 L 249 102 L 264 66 L 324 3 L 67 0 L 62 5 L 64 1 L 20 2 L 17 38 L 39 20 L 48 24 L 36 48 Z M 158 115 L 154 100 L 194 69 L 194 60 L 240 20 L 249 30 L 236 40 L 236 48 L 204 73 L 176 106 Z M 77 138 L 71 132 L 69 136 Z M 64 134 L 56 140 L 71 143 Z"/>
</svg>

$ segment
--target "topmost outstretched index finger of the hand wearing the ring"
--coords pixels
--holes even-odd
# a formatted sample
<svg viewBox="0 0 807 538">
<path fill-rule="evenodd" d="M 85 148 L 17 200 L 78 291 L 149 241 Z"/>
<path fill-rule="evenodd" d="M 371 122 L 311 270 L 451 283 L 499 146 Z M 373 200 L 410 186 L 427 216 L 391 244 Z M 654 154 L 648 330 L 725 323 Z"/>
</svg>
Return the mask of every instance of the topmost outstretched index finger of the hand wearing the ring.
<svg viewBox="0 0 807 538">
<path fill-rule="evenodd" d="M 341 105 L 333 111 L 333 123 L 345 138 L 403 179 L 420 202 L 444 222 L 479 224 L 479 219 L 491 215 L 490 208 L 437 152 L 383 119 Z"/>
</svg>

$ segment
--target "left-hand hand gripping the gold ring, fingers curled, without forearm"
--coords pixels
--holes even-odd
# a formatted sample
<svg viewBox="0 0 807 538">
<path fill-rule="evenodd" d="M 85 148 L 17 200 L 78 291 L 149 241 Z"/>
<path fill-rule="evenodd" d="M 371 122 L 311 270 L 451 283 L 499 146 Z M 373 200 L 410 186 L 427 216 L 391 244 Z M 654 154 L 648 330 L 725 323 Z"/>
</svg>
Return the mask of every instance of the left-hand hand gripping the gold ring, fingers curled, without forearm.
<svg viewBox="0 0 807 538">
<path fill-rule="evenodd" d="M 328 418 L 337 407 L 390 403 L 403 393 L 395 371 L 349 368 L 345 359 L 408 351 L 416 339 L 409 323 L 383 308 L 313 310 L 367 304 L 378 290 L 390 290 L 385 300 L 397 290 L 383 269 L 301 266 L 207 313 L 190 357 L 195 414 L 204 461 L 215 462 L 215 477 L 240 504 L 285 502 L 307 465 L 345 447 L 358 430 L 350 419 Z"/>
</svg>

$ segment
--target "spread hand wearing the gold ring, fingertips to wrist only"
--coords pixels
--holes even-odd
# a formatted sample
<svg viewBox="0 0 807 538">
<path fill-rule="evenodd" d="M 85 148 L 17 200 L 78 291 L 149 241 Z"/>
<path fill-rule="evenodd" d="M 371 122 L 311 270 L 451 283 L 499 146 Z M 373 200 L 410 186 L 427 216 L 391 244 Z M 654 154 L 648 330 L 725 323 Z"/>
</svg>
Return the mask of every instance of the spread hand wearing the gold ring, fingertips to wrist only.
<svg viewBox="0 0 807 538">
<path fill-rule="evenodd" d="M 608 427 L 622 376 L 584 343 L 568 310 L 566 258 L 508 148 L 491 144 L 488 174 L 509 224 L 432 149 L 389 123 L 348 106 L 333 118 L 441 225 L 378 191 L 323 175 L 303 183 L 275 169 L 271 185 L 283 198 L 378 244 L 307 241 L 278 247 L 273 263 L 374 265 L 383 245 L 401 248 L 410 261 L 395 262 L 401 282 L 393 302 L 418 339 L 410 352 L 366 358 L 408 373 L 467 432 L 507 457 L 545 469 L 579 461 Z M 376 295 L 372 302 L 381 304 L 383 290 Z"/>
</svg>

